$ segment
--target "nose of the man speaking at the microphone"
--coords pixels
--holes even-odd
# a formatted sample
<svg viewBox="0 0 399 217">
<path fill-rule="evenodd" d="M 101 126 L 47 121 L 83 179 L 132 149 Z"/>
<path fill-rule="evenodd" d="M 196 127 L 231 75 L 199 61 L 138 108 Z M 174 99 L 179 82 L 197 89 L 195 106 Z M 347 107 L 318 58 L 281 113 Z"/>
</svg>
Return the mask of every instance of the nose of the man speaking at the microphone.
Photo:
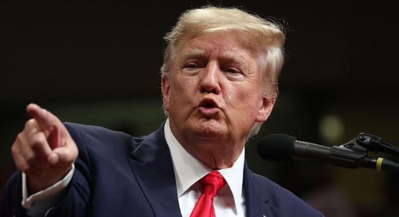
<svg viewBox="0 0 399 217">
<path fill-rule="evenodd" d="M 199 90 L 201 93 L 214 93 L 214 94 L 219 94 L 220 93 L 220 78 L 219 76 L 221 75 L 220 72 L 220 67 L 219 64 L 210 62 L 207 64 L 207 67 L 204 68 L 202 72 L 202 80 L 201 80 L 201 86 L 199 87 Z"/>
</svg>

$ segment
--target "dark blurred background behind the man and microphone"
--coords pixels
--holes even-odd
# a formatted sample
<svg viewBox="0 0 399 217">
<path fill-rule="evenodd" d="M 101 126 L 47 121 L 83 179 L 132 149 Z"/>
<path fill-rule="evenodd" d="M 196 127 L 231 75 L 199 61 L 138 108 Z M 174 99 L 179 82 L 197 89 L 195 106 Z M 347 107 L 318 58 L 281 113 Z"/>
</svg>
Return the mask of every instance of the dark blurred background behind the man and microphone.
<svg viewBox="0 0 399 217">
<path fill-rule="evenodd" d="M 399 173 L 267 162 L 256 153 L 271 133 L 333 146 L 368 132 L 399 145 L 394 1 L 2 1 L 0 193 L 16 170 L 10 149 L 29 102 L 66 122 L 136 136 L 156 130 L 165 120 L 162 37 L 180 13 L 208 3 L 243 6 L 287 26 L 280 96 L 248 144 L 250 168 L 326 217 L 399 216 Z"/>
</svg>

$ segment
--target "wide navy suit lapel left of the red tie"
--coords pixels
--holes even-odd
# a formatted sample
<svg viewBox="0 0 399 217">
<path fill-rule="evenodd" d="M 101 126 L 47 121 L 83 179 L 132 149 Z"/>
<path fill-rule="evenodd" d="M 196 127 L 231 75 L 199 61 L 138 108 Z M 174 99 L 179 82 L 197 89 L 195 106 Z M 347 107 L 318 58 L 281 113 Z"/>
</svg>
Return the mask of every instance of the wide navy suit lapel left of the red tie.
<svg viewBox="0 0 399 217">
<path fill-rule="evenodd" d="M 129 164 L 155 216 L 181 216 L 164 125 L 144 138 L 131 153 Z"/>
</svg>

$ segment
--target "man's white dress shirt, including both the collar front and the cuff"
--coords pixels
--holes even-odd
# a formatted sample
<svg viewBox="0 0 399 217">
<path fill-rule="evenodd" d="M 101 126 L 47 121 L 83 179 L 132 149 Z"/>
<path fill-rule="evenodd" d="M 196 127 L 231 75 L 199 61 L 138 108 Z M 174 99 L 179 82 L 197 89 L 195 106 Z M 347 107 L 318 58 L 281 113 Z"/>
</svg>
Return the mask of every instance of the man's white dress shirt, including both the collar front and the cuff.
<svg viewBox="0 0 399 217">
<path fill-rule="evenodd" d="M 177 141 L 169 127 L 169 119 L 165 123 L 165 139 L 172 156 L 176 178 L 177 195 L 183 217 L 188 217 L 202 194 L 199 180 L 212 171 L 203 162 L 188 153 Z M 226 185 L 214 197 L 216 216 L 245 216 L 245 200 L 242 189 L 244 168 L 244 149 L 231 168 L 219 170 L 226 180 Z M 74 166 L 59 182 L 28 197 L 26 176 L 22 173 L 22 206 L 32 216 L 43 216 L 49 209 L 57 205 L 62 192 L 72 180 Z"/>
</svg>

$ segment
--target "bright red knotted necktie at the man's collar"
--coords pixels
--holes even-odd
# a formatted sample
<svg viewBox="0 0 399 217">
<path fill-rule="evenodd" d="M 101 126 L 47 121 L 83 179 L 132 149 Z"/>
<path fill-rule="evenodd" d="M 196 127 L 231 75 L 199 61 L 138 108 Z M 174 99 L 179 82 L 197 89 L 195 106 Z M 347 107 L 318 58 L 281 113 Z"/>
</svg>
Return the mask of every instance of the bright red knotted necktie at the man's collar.
<svg viewBox="0 0 399 217">
<path fill-rule="evenodd" d="M 223 176 L 218 171 L 212 171 L 199 180 L 203 184 L 203 194 L 199 197 L 190 217 L 215 217 L 213 198 L 226 184 Z"/>
</svg>

